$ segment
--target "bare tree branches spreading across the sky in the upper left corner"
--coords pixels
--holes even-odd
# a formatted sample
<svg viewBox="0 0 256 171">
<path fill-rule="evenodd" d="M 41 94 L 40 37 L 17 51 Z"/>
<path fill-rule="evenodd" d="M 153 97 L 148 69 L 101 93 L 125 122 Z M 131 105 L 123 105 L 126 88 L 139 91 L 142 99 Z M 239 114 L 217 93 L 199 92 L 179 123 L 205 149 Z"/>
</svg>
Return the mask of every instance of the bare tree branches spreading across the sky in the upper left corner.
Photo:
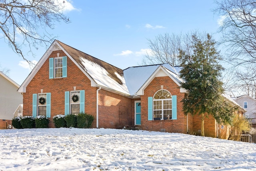
<svg viewBox="0 0 256 171">
<path fill-rule="evenodd" d="M 54 29 L 55 22 L 70 22 L 63 14 L 65 0 L 0 0 L 0 38 L 24 60 L 22 50 L 48 46 L 55 37 L 47 29 Z M 22 36 L 22 41 L 17 40 Z"/>
</svg>

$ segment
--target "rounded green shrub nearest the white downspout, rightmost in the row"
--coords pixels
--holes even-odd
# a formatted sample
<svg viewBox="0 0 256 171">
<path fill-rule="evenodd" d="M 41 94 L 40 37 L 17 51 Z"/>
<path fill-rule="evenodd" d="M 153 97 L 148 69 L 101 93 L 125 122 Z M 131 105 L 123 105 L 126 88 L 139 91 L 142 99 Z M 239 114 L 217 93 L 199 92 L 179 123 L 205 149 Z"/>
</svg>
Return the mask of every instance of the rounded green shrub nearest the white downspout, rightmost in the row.
<svg viewBox="0 0 256 171">
<path fill-rule="evenodd" d="M 86 113 L 79 113 L 77 115 L 77 127 L 78 128 L 90 128 L 92 127 L 92 121 L 94 117 Z"/>
</svg>

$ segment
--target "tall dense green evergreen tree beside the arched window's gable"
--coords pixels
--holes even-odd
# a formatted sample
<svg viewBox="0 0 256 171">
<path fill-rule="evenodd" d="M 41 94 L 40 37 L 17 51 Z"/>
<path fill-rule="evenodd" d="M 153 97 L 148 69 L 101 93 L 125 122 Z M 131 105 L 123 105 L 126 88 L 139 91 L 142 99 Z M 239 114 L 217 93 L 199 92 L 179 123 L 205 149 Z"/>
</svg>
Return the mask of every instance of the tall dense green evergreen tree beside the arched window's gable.
<svg viewBox="0 0 256 171">
<path fill-rule="evenodd" d="M 202 39 L 192 35 L 192 54 L 180 50 L 182 70 L 180 77 L 184 80 L 182 88 L 189 93 L 182 100 L 184 114 L 201 115 L 201 136 L 204 136 L 204 117 L 212 115 L 216 121 L 230 123 L 234 107 L 225 101 L 222 94 L 220 76 L 224 68 L 219 64 L 222 59 L 216 50 L 216 42 L 207 34 Z"/>
</svg>

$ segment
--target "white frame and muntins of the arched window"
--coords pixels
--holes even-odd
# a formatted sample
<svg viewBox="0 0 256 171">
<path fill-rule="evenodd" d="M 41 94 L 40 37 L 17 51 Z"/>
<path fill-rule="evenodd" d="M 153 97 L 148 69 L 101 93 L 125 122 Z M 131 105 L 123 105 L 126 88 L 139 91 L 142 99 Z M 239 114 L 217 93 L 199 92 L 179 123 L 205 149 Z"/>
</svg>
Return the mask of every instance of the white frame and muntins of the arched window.
<svg viewBox="0 0 256 171">
<path fill-rule="evenodd" d="M 170 98 L 166 98 L 166 96 L 164 96 L 164 95 L 158 95 L 159 96 L 159 99 L 155 99 L 155 95 L 159 92 L 159 91 L 167 91 L 168 93 L 166 94 L 166 96 L 168 95 L 168 94 L 170 94 Z M 165 97 L 165 99 L 163 98 L 163 99 L 160 99 L 160 97 Z M 166 109 L 164 109 L 164 101 L 168 101 L 168 105 L 169 105 L 169 108 L 166 108 Z M 171 101 L 171 103 L 170 103 L 170 101 Z M 156 103 L 156 104 L 155 104 Z M 165 104 L 166 105 L 166 104 Z M 157 109 L 158 108 L 158 109 Z M 154 96 L 153 96 L 153 119 L 154 118 L 156 118 L 156 117 L 154 117 L 155 115 L 154 115 L 154 111 L 161 111 L 161 113 L 160 113 L 160 116 L 161 116 L 161 120 L 164 120 L 164 111 L 171 111 L 171 113 L 172 113 L 172 95 L 171 95 L 171 93 L 170 93 L 170 91 L 168 91 L 168 90 L 166 90 L 166 89 L 159 89 L 158 91 L 156 91 L 156 93 L 154 94 Z M 157 115 L 159 115 L 159 114 L 157 114 Z M 171 119 L 172 118 L 172 116 L 171 116 L 171 114 L 169 115 L 169 118 L 168 118 L 168 115 L 166 116 L 166 118 L 167 119 Z"/>
</svg>

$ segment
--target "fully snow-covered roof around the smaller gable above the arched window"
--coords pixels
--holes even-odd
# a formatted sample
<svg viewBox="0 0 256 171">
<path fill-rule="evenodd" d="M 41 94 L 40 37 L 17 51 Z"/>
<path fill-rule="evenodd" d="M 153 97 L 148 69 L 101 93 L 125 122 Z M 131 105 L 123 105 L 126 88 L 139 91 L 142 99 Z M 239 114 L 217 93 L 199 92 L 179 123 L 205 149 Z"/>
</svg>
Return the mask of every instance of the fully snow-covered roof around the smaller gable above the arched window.
<svg viewBox="0 0 256 171">
<path fill-rule="evenodd" d="M 124 78 L 130 95 L 135 95 L 135 93 L 140 89 L 140 87 L 150 78 L 150 76 L 156 71 L 159 66 L 163 66 L 168 73 L 170 73 L 178 82 L 178 71 L 179 67 L 172 67 L 169 64 L 158 64 L 150 66 L 137 66 L 129 67 L 124 70 Z"/>
</svg>

